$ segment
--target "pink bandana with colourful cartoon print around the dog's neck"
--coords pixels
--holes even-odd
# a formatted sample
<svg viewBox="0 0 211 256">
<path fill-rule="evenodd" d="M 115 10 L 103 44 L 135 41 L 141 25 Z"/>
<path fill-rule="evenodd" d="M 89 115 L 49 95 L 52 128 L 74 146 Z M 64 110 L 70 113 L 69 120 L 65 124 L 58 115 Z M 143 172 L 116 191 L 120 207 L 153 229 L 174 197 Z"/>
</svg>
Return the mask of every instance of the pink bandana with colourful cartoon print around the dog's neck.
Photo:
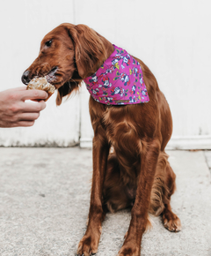
<svg viewBox="0 0 211 256">
<path fill-rule="evenodd" d="M 125 105 L 149 102 L 141 65 L 125 49 L 114 51 L 91 77 L 84 79 L 96 102 Z"/>
</svg>

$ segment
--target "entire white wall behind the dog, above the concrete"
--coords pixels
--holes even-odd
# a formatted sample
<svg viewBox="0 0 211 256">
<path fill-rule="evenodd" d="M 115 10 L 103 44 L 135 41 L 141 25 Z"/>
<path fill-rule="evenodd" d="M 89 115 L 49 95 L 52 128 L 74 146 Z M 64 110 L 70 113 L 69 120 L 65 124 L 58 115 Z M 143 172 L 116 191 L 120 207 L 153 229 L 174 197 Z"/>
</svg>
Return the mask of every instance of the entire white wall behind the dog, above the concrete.
<svg viewBox="0 0 211 256">
<path fill-rule="evenodd" d="M 169 148 L 211 148 L 210 1 L 11 0 L 2 7 L 1 90 L 21 86 L 21 74 L 48 31 L 62 22 L 84 23 L 141 58 L 155 74 L 174 121 Z M 19 144 L 66 146 L 81 134 L 82 144 L 90 145 L 88 97 L 82 88 L 79 98 L 59 108 L 50 99 L 34 127 L 0 129 L 0 144 L 15 145 L 18 134 Z M 46 132 L 47 124 L 54 129 Z"/>
</svg>

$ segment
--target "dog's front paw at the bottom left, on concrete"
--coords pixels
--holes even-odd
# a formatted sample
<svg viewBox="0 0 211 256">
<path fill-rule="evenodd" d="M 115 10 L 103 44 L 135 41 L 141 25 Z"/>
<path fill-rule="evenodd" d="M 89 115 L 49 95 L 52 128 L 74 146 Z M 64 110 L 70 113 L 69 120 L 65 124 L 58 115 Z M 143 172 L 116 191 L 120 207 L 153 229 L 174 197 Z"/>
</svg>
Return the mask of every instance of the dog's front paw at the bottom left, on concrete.
<svg viewBox="0 0 211 256">
<path fill-rule="evenodd" d="M 86 234 L 77 247 L 77 256 L 90 256 L 98 252 L 99 236 Z"/>
</svg>

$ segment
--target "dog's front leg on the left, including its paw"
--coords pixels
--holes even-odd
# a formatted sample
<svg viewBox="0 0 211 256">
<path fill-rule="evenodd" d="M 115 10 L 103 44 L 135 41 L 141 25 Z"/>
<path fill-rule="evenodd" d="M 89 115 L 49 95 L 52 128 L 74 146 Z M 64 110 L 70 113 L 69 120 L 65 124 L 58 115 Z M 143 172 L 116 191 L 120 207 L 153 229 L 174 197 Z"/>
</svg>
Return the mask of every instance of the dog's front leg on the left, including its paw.
<svg viewBox="0 0 211 256">
<path fill-rule="evenodd" d="M 91 203 L 88 226 L 84 237 L 77 248 L 77 255 L 88 256 L 98 252 L 98 242 L 101 234 L 101 223 L 105 217 L 102 208 L 103 184 L 106 173 L 109 146 L 102 139 L 93 139 L 93 174 L 91 184 Z"/>
</svg>

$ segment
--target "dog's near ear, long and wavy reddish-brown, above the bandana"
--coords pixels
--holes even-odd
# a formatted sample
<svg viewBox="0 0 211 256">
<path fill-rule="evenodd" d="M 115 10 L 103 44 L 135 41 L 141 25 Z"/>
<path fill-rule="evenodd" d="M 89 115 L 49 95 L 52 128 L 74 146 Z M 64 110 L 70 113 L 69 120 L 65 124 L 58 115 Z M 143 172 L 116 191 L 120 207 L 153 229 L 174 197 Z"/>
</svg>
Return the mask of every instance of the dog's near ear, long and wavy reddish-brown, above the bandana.
<svg viewBox="0 0 211 256">
<path fill-rule="evenodd" d="M 84 79 L 106 60 L 106 48 L 101 36 L 89 26 L 80 24 L 67 28 L 75 47 L 77 72 Z"/>
</svg>

